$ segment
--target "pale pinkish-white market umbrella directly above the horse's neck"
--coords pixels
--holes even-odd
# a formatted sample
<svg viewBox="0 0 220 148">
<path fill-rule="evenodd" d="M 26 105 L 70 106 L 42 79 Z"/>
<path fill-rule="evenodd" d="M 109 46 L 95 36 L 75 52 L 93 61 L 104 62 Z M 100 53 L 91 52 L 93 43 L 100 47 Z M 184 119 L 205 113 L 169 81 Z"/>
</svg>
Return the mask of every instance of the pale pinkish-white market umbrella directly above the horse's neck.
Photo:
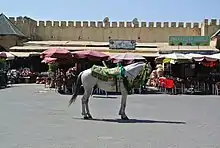
<svg viewBox="0 0 220 148">
<path fill-rule="evenodd" d="M 114 54 L 109 58 L 113 63 L 124 62 L 131 63 L 133 61 L 145 61 L 146 59 L 143 56 L 137 55 L 135 53 L 121 53 Z"/>
</svg>

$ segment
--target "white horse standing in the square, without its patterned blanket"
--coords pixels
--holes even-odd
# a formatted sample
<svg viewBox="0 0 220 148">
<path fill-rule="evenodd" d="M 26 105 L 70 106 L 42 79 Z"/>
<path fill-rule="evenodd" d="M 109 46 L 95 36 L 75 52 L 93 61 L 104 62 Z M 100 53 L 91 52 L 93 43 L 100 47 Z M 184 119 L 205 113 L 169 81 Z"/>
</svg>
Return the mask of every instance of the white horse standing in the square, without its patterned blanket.
<svg viewBox="0 0 220 148">
<path fill-rule="evenodd" d="M 125 76 L 127 77 L 128 81 L 134 80 L 138 74 L 143 70 L 145 63 L 133 63 L 128 66 L 125 66 Z M 92 90 L 94 86 L 105 90 L 109 92 L 116 92 L 116 85 L 115 81 L 102 81 L 98 78 L 95 78 L 92 76 L 91 68 L 82 71 L 77 78 L 75 92 L 69 101 L 69 106 L 75 102 L 77 95 L 79 93 L 80 86 L 83 85 L 84 87 L 84 95 L 82 97 L 82 115 L 84 116 L 84 119 L 92 119 L 92 115 L 89 111 L 89 97 L 91 96 Z M 119 110 L 119 115 L 121 116 L 121 119 L 123 120 L 129 120 L 125 113 L 126 108 L 126 101 L 127 101 L 127 95 L 128 92 L 126 90 L 126 86 L 124 86 L 123 81 L 119 80 L 119 87 L 118 90 L 120 90 L 122 98 L 121 98 L 121 107 Z"/>
</svg>

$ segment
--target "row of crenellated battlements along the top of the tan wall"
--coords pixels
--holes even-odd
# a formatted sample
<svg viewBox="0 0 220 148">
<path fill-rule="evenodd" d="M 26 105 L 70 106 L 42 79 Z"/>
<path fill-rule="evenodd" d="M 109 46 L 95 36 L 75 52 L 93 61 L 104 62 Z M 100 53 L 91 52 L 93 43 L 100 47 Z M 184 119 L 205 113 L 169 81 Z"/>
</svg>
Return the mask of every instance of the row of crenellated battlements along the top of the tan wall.
<svg viewBox="0 0 220 148">
<path fill-rule="evenodd" d="M 36 21 L 28 17 L 9 17 L 9 20 L 15 24 L 35 24 L 38 27 L 96 27 L 96 28 L 201 28 L 201 24 L 220 25 L 217 19 L 204 19 L 203 22 L 108 22 L 103 21 Z"/>
</svg>

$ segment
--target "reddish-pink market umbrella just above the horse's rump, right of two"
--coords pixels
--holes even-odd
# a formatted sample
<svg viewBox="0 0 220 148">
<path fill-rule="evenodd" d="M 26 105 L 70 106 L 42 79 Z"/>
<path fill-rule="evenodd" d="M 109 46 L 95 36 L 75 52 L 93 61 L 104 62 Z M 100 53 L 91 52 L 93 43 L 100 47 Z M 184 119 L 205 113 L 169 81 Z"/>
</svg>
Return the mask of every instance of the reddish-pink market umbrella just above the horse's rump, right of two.
<svg viewBox="0 0 220 148">
<path fill-rule="evenodd" d="M 76 59 L 89 59 L 94 61 L 107 60 L 109 58 L 108 55 L 93 50 L 75 51 L 72 54 Z"/>
</svg>

